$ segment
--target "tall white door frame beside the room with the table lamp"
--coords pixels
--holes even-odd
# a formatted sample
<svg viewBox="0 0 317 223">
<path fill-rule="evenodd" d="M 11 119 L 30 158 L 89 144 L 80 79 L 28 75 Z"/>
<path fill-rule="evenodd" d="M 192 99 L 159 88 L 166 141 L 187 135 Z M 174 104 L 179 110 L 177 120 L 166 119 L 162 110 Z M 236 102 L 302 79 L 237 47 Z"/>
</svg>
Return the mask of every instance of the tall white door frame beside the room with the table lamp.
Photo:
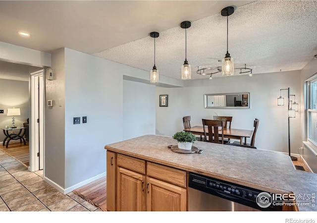
<svg viewBox="0 0 317 223">
<path fill-rule="evenodd" d="M 41 84 L 43 87 L 43 97 L 40 102 L 40 97 L 37 95 L 39 92 L 39 85 L 41 84 L 37 81 L 37 77 L 43 76 Z M 39 83 L 39 84 L 38 84 Z M 29 137 L 29 154 L 30 154 L 30 171 L 36 171 L 40 169 L 40 157 L 37 156 L 37 153 L 40 150 L 40 135 L 43 142 L 43 169 L 45 167 L 45 69 L 41 69 L 35 72 L 30 73 L 30 101 L 31 101 L 31 117 L 30 117 L 30 137 Z M 36 110 L 36 107 L 42 105 L 42 109 Z M 39 112 L 42 111 L 40 115 Z M 40 120 L 39 125 L 37 124 L 37 119 L 43 117 L 43 120 Z M 41 128 L 40 128 L 40 125 Z M 39 134 L 40 129 L 43 129 L 43 134 Z M 44 175 L 44 171 L 43 171 Z"/>
</svg>

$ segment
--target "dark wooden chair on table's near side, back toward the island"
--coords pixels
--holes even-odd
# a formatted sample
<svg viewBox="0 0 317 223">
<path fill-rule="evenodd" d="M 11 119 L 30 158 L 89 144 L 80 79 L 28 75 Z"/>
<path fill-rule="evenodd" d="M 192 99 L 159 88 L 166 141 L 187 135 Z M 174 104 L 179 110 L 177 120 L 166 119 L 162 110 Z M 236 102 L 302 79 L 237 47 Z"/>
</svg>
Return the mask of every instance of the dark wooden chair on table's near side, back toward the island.
<svg viewBox="0 0 317 223">
<path fill-rule="evenodd" d="M 209 119 L 202 119 L 203 120 L 203 127 L 204 127 L 204 134 L 205 134 L 205 142 L 211 143 L 219 143 L 224 144 L 223 139 L 223 128 L 224 128 L 224 120 L 209 120 Z M 208 127 L 208 133 L 206 132 L 205 126 Z M 220 127 L 220 133 L 219 133 Z"/>
</svg>

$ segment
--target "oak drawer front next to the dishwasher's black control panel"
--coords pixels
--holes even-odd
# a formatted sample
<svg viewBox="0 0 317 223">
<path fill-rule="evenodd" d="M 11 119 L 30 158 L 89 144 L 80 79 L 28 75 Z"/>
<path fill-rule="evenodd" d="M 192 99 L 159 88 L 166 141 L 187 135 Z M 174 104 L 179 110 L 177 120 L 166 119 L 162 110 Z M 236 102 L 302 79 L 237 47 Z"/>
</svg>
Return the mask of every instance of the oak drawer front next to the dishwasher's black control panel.
<svg viewBox="0 0 317 223">
<path fill-rule="evenodd" d="M 147 163 L 148 175 L 186 187 L 186 171 L 160 164 Z"/>
</svg>

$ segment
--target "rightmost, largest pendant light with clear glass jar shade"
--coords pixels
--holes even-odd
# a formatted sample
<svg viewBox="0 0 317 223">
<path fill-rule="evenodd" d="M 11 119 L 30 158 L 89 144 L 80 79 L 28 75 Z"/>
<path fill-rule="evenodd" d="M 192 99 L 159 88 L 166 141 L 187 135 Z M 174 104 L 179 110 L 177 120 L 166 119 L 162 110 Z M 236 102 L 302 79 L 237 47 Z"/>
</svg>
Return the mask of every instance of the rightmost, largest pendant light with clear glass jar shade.
<svg viewBox="0 0 317 223">
<path fill-rule="evenodd" d="M 225 57 L 222 59 L 222 75 L 229 76 L 234 74 L 234 66 L 233 66 L 233 58 L 230 56 L 228 52 L 228 16 L 233 14 L 234 7 L 228 6 L 221 10 L 222 16 L 227 16 L 227 53 Z"/>
</svg>

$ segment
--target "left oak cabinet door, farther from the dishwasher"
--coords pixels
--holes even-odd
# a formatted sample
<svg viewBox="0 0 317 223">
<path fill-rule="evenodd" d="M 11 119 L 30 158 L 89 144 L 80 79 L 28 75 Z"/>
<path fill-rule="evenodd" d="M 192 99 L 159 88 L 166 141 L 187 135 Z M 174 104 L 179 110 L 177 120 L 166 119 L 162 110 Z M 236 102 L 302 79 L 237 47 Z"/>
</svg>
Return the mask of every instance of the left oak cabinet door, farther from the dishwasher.
<svg viewBox="0 0 317 223">
<path fill-rule="evenodd" d="M 117 167 L 117 211 L 145 211 L 145 175 Z"/>
</svg>

